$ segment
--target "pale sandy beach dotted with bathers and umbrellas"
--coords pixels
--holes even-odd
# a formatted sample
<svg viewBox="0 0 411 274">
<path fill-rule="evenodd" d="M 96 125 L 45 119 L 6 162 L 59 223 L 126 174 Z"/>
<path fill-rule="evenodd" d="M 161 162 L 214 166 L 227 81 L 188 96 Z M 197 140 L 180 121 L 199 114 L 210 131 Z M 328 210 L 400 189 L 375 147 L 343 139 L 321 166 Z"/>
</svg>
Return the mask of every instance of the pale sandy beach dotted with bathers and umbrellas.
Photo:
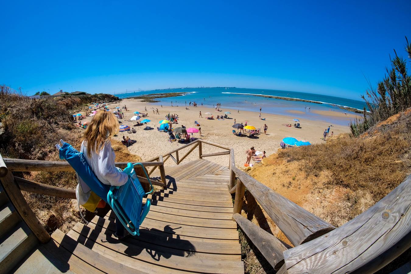
<svg viewBox="0 0 411 274">
<path fill-rule="evenodd" d="M 129 134 L 126 132 L 120 132 L 118 136 L 115 136 L 115 140 L 121 141 L 122 136 L 129 136 L 132 140 L 137 142 L 129 147 L 130 152 L 139 155 L 143 161 L 147 161 L 152 157 L 158 156 L 160 154 L 165 154 L 171 150 L 175 150 L 178 147 L 183 146 L 183 143 L 179 142 L 169 142 L 168 134 L 164 132 L 157 131 L 159 126 L 159 121 L 166 118 L 167 114 L 178 114 L 179 120 L 178 124 L 173 124 L 173 127 L 196 127 L 194 125 L 194 120 L 197 120 L 200 123 L 201 132 L 203 136 L 200 136 L 199 133 L 195 133 L 195 138 L 202 138 L 213 143 L 218 143 L 226 147 L 232 147 L 235 153 L 236 166 L 242 167 L 246 161 L 245 150 L 249 147 L 254 146 L 257 151 L 266 151 L 266 155 L 269 156 L 272 153 L 275 153 L 280 149 L 280 142 L 285 137 L 294 137 L 298 140 L 307 140 L 312 144 L 324 143 L 322 140 L 323 132 L 330 126 L 330 123 L 317 121 L 317 120 L 306 120 L 304 118 L 300 119 L 300 126 L 302 128 L 298 129 L 295 127 L 286 127 L 283 124 L 294 124 L 293 117 L 291 115 L 274 115 L 266 114 L 262 110 L 261 117 L 266 118 L 266 120 L 259 119 L 259 113 L 251 111 L 240 111 L 224 108 L 221 112 L 215 111 L 214 108 L 198 106 L 192 107 L 187 106 L 189 110 L 186 110 L 186 106 L 158 106 L 156 104 L 150 104 L 146 102 L 141 102 L 136 99 L 122 99 L 122 101 L 117 103 L 109 103 L 108 107 L 111 111 L 114 110 L 116 106 L 127 106 L 128 111 L 123 111 L 125 119 L 119 119 L 122 124 L 126 124 L 134 129 L 136 129 L 135 134 Z M 147 111 L 145 111 L 147 108 Z M 158 108 L 160 114 L 153 114 L 153 109 Z M 134 116 L 134 111 L 148 113 L 148 117 L 141 118 L 149 119 L 151 122 L 148 125 L 152 128 L 151 130 L 144 130 L 144 126 L 134 126 L 136 121 L 130 121 L 129 119 Z M 201 111 L 203 117 L 199 117 L 199 112 Z M 230 111 L 230 119 L 225 120 L 208 120 L 205 117 L 211 116 L 206 115 L 205 113 L 210 112 L 214 117 L 217 115 L 224 115 L 225 111 Z M 84 114 L 84 113 L 83 113 Z M 327 114 L 334 114 L 332 112 L 328 113 L 324 111 L 321 115 L 326 116 Z M 92 117 L 87 117 L 82 121 L 89 121 Z M 248 135 L 236 136 L 232 133 L 232 125 L 234 124 L 234 119 L 237 123 L 245 123 L 252 125 L 254 127 L 261 128 L 262 133 L 256 135 L 254 138 L 249 138 Z M 349 117 L 347 117 L 349 121 Z M 263 126 L 267 124 L 268 130 L 265 135 L 263 132 Z M 348 122 L 347 122 L 348 124 Z M 349 132 L 348 126 L 339 126 L 334 125 L 330 129 L 334 132 L 334 136 L 340 133 Z M 184 155 L 189 148 L 180 151 L 180 155 Z M 203 145 L 203 154 L 221 152 L 222 149 L 213 147 L 210 145 Z M 181 157 L 181 156 L 180 156 Z M 198 159 L 199 155 L 197 150 L 194 150 L 184 162 Z M 208 157 L 210 161 L 219 163 L 225 166 L 229 164 L 229 155 Z M 253 163 L 253 161 L 251 161 Z M 169 159 L 166 162 L 166 166 L 174 165 L 174 161 Z M 255 164 L 255 163 L 254 163 Z"/>
</svg>

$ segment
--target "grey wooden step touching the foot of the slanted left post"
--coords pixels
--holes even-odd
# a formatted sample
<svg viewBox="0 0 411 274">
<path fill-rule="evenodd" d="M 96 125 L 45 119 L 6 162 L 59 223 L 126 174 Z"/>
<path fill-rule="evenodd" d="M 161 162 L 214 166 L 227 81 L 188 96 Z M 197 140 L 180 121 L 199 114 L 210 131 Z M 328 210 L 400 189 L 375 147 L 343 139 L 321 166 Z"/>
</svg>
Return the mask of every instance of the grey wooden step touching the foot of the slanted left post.
<svg viewBox="0 0 411 274">
<path fill-rule="evenodd" d="M 0 239 L 0 274 L 9 273 L 37 244 L 25 223 L 17 223 Z"/>
</svg>

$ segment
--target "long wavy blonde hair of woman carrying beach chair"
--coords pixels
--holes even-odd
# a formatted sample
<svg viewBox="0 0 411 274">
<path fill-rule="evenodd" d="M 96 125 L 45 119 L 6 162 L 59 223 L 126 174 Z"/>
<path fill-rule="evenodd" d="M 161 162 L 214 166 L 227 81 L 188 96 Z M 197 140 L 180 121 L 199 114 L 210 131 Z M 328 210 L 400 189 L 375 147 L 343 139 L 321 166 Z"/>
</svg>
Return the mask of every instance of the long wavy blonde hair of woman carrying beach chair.
<svg viewBox="0 0 411 274">
<path fill-rule="evenodd" d="M 109 111 L 97 111 L 84 131 L 83 140 L 87 142 L 87 155 L 99 153 L 104 143 L 117 134 L 120 124 L 115 115 Z"/>
</svg>

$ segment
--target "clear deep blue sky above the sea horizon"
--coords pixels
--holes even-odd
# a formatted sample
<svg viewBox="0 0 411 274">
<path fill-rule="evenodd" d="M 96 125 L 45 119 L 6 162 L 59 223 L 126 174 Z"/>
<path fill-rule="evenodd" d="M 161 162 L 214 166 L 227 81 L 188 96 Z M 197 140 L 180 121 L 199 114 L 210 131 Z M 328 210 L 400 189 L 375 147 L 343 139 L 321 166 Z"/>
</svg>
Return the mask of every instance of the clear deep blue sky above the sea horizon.
<svg viewBox="0 0 411 274">
<path fill-rule="evenodd" d="M 285 3 L 288 2 L 288 3 Z M 236 86 L 359 99 L 411 1 L 3 1 L 0 83 L 27 94 Z"/>
</svg>

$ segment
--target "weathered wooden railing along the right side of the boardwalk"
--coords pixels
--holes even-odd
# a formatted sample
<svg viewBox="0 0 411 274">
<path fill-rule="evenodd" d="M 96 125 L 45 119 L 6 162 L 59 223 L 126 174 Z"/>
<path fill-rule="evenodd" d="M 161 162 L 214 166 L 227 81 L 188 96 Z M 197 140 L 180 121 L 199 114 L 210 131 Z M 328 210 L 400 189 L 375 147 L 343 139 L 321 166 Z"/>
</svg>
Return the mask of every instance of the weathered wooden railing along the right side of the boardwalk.
<svg viewBox="0 0 411 274">
<path fill-rule="evenodd" d="M 277 273 L 374 273 L 411 247 L 411 175 L 386 197 L 335 228 L 235 166 L 233 220 Z M 234 182 L 237 182 L 234 186 Z M 245 189 L 294 247 L 240 215 Z"/>
</svg>

